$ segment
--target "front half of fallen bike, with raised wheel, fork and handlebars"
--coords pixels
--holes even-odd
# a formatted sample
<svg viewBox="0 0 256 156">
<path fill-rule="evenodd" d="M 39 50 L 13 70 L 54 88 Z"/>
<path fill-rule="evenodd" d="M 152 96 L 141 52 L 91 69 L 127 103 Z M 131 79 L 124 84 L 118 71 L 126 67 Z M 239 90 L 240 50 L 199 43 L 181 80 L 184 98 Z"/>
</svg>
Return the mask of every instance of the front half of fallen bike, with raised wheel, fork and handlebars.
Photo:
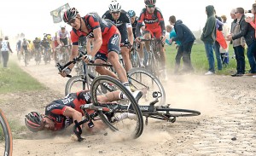
<svg viewBox="0 0 256 156">
<path fill-rule="evenodd" d="M 102 91 L 102 86 L 108 88 L 108 92 Z M 106 93 L 120 91 L 126 95 L 127 99 L 121 99 L 118 101 L 111 102 L 101 102 L 98 100 L 98 95 L 106 95 Z M 141 136 L 143 133 L 143 114 L 137 105 L 137 101 L 131 95 L 131 92 L 125 88 L 115 78 L 102 75 L 94 78 L 90 87 L 91 101 L 90 104 L 84 104 L 80 108 L 83 110 L 85 118 L 81 122 L 74 121 L 75 125 L 73 131 L 78 137 L 78 141 L 81 142 L 83 138 L 81 137 L 82 130 L 80 128 L 81 124 L 87 123 L 89 128 L 94 126 L 93 121 L 101 119 L 104 124 L 112 131 L 119 131 L 125 137 L 134 138 Z M 126 109 L 124 109 L 124 107 Z M 95 113 L 87 113 L 86 110 L 95 110 Z M 123 113 L 132 113 L 132 118 L 127 118 L 123 120 L 114 120 L 118 118 Z M 99 118 L 97 118 L 99 117 Z"/>
</svg>

